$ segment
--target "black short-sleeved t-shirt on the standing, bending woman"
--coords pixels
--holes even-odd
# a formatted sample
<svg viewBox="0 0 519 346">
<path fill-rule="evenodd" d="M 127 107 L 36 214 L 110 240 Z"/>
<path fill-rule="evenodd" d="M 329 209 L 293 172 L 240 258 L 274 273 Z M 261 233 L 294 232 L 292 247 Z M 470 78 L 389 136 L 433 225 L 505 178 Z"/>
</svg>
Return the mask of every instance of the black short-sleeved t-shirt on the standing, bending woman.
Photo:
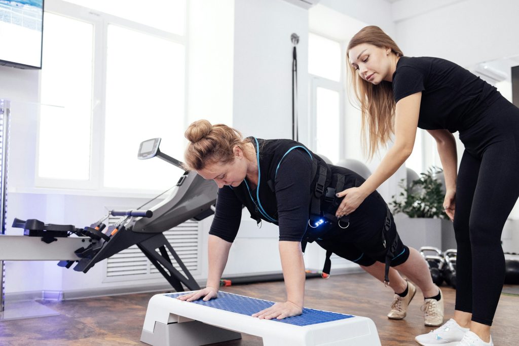
<svg viewBox="0 0 519 346">
<path fill-rule="evenodd" d="M 439 58 L 400 58 L 392 84 L 395 102 L 422 92 L 418 127 L 426 130 L 468 129 L 501 95 L 465 68 Z"/>
</svg>

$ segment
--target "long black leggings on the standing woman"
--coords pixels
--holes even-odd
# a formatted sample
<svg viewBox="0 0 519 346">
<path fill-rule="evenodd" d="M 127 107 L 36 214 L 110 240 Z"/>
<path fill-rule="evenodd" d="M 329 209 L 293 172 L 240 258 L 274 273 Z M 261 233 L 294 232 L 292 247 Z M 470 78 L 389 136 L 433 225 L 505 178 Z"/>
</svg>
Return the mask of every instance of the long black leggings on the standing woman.
<svg viewBox="0 0 519 346">
<path fill-rule="evenodd" d="M 456 310 L 492 325 L 504 281 L 501 233 L 519 196 L 519 109 L 501 98 L 468 130 L 456 184 Z"/>
</svg>

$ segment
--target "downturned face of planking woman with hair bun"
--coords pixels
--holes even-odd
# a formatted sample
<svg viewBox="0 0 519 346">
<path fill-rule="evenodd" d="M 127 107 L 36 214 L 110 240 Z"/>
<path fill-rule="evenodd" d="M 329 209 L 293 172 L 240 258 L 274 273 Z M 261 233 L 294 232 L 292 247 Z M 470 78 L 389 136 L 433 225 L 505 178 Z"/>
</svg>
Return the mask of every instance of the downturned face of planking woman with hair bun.
<svg viewBox="0 0 519 346">
<path fill-rule="evenodd" d="M 208 164 L 197 173 L 204 179 L 214 180 L 219 188 L 225 185 L 237 187 L 247 175 L 247 158 L 243 156 L 243 151 L 235 146 L 232 162 Z"/>
</svg>

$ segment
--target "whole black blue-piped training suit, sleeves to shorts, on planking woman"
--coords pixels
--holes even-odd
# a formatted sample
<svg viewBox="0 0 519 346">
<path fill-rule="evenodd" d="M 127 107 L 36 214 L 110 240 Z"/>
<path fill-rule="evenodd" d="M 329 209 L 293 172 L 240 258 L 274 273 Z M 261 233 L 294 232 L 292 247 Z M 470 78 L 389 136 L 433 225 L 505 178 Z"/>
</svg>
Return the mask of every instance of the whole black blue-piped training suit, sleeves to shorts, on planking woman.
<svg viewBox="0 0 519 346">
<path fill-rule="evenodd" d="M 245 179 L 238 187 L 218 189 L 210 234 L 233 242 L 241 220 L 242 206 L 259 224 L 279 226 L 279 240 L 316 241 L 327 251 L 323 276 L 330 273 L 330 255 L 371 266 L 389 266 L 407 260 L 393 216 L 378 192 L 371 193 L 356 211 L 339 220 L 335 211 L 342 199 L 335 193 L 360 186 L 359 174 L 329 165 L 301 143 L 292 140 L 261 140 L 249 137 L 256 150 L 258 185 Z"/>
</svg>

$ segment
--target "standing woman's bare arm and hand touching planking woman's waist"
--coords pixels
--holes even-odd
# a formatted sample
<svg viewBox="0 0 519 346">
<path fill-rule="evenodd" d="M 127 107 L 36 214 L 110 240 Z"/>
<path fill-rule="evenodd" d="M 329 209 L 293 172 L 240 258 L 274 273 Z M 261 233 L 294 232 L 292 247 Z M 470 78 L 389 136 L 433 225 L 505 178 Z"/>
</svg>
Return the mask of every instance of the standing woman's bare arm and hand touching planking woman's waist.
<svg viewBox="0 0 519 346">
<path fill-rule="evenodd" d="M 394 145 L 388 150 L 375 172 L 361 186 L 337 193 L 338 197 L 345 196 L 337 208 L 337 217 L 353 213 L 364 199 L 393 175 L 411 155 L 418 128 L 420 102 L 421 92 L 406 96 L 397 102 Z"/>
</svg>

